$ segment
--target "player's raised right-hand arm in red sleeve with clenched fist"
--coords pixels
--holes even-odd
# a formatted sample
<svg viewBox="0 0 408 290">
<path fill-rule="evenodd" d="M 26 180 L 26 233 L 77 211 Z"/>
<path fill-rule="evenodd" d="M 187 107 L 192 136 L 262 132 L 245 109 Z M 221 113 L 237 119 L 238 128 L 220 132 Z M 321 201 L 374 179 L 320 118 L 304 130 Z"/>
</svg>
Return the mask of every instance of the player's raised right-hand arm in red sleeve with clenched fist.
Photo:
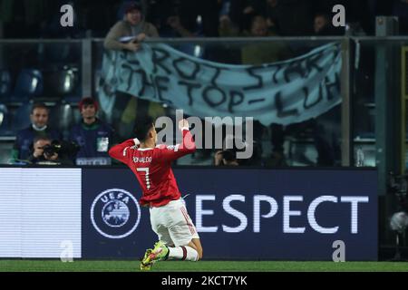
<svg viewBox="0 0 408 290">
<path fill-rule="evenodd" d="M 158 157 L 161 160 L 177 160 L 184 155 L 193 153 L 196 150 L 196 143 L 194 142 L 191 133 L 188 129 L 182 131 L 183 140 L 181 144 L 176 145 L 160 145 L 158 151 Z"/>
</svg>

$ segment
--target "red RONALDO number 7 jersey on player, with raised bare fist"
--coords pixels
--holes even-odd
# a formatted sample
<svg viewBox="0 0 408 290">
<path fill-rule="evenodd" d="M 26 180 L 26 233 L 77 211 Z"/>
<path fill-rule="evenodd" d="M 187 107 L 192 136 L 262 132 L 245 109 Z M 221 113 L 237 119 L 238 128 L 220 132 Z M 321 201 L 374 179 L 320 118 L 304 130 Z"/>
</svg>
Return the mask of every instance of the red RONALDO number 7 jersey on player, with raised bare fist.
<svg viewBox="0 0 408 290">
<path fill-rule="evenodd" d="M 177 145 L 160 144 L 141 149 L 134 140 L 126 140 L 109 150 L 109 155 L 125 163 L 136 175 L 142 189 L 142 206 L 161 207 L 180 198 L 180 190 L 171 170 L 171 161 L 192 153 L 196 145 L 188 129 L 182 131 L 183 142 Z"/>
</svg>

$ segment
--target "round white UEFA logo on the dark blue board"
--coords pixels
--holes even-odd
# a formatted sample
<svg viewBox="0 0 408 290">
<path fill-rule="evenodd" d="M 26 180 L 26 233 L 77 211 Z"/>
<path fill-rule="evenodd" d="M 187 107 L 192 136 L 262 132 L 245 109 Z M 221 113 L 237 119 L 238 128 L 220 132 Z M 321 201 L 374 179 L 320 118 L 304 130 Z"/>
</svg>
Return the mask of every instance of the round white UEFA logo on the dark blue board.
<svg viewBox="0 0 408 290">
<path fill-rule="evenodd" d="M 126 190 L 107 189 L 92 202 L 92 225 L 103 237 L 128 237 L 140 220 L 139 203 Z"/>
</svg>

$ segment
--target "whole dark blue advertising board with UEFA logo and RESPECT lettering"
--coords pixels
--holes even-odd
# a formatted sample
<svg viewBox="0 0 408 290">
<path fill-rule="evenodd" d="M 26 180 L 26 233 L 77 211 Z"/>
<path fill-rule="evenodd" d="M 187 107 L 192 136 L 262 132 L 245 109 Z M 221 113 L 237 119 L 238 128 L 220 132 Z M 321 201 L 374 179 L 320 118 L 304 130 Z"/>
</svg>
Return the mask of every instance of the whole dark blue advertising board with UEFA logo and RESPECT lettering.
<svg viewBox="0 0 408 290">
<path fill-rule="evenodd" d="M 174 169 L 208 259 L 377 259 L 376 171 Z M 141 257 L 156 241 L 130 169 L 83 169 L 83 258 Z"/>
</svg>

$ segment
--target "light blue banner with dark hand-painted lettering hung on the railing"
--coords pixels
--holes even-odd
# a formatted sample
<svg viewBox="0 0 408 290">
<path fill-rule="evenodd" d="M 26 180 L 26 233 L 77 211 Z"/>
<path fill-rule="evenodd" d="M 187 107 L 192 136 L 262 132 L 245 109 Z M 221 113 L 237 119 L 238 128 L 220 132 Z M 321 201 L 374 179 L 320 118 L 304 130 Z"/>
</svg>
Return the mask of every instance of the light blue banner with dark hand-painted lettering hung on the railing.
<svg viewBox="0 0 408 290">
<path fill-rule="evenodd" d="M 120 91 L 190 116 L 253 117 L 264 125 L 287 125 L 341 102 L 341 66 L 338 43 L 257 66 L 209 62 L 167 44 L 143 43 L 137 53 L 105 53 L 99 98 L 108 112 Z"/>
</svg>

